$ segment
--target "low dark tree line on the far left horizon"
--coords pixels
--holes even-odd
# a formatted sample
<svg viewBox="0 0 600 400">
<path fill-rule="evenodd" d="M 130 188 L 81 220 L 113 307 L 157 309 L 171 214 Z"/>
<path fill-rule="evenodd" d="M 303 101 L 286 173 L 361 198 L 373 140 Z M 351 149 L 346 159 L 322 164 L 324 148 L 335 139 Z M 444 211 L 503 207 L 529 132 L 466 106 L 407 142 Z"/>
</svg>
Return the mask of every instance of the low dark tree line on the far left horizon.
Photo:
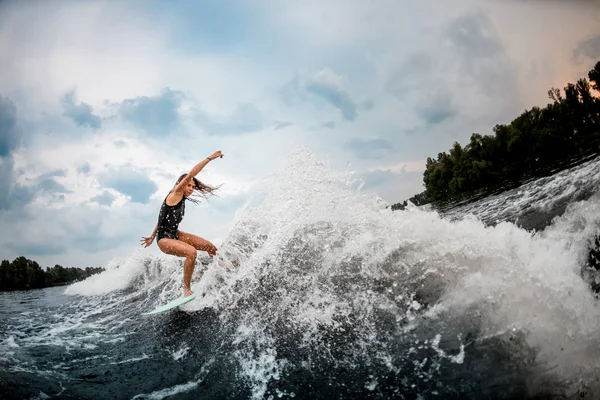
<svg viewBox="0 0 600 400">
<path fill-rule="evenodd" d="M 41 289 L 50 286 L 66 285 L 83 280 L 103 271 L 103 268 L 65 268 L 55 265 L 42 269 L 40 265 L 25 257 L 17 257 L 12 262 L 0 263 L 0 291 Z"/>
</svg>

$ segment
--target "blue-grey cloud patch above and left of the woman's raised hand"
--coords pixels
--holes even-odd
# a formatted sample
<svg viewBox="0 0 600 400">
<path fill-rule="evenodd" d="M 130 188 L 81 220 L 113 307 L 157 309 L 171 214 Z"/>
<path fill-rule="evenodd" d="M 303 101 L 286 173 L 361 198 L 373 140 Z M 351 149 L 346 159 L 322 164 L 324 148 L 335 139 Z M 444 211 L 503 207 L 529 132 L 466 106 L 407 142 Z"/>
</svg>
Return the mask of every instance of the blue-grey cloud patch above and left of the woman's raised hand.
<svg viewBox="0 0 600 400">
<path fill-rule="evenodd" d="M 118 105 L 121 118 L 152 135 L 167 135 L 181 123 L 179 108 L 185 95 L 165 88 L 158 96 L 125 99 Z"/>
</svg>

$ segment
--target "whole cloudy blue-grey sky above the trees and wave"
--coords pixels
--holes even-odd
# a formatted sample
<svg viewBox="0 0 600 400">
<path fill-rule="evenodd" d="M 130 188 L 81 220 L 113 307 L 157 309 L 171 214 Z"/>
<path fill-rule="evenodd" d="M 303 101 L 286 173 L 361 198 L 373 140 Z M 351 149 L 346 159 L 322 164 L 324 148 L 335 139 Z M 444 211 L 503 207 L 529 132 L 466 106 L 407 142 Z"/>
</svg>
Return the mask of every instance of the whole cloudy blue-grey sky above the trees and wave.
<svg viewBox="0 0 600 400">
<path fill-rule="evenodd" d="M 3 1 L 0 60 L 0 259 L 103 266 L 216 150 L 181 229 L 217 246 L 299 147 L 389 204 L 422 192 L 427 157 L 587 75 L 600 3 Z"/>
</svg>

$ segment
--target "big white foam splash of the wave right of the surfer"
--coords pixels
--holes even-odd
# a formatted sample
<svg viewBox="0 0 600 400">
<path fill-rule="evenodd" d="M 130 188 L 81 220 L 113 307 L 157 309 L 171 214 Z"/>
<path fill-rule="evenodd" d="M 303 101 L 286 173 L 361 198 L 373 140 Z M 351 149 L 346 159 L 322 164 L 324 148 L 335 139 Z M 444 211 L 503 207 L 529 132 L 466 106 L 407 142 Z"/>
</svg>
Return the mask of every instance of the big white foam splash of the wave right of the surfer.
<svg viewBox="0 0 600 400">
<path fill-rule="evenodd" d="M 561 348 L 580 354 L 593 346 L 600 331 L 598 302 L 580 275 L 586 244 L 597 233 L 596 197 L 570 207 L 564 219 L 571 222 L 557 220 L 553 228 L 536 234 L 512 223 L 486 226 L 473 216 L 450 221 L 415 207 L 394 213 L 347 182 L 316 155 L 297 152 L 261 200 L 240 213 L 221 246 L 220 251 L 243 259 L 243 267 L 211 293 L 224 320 L 240 298 L 251 301 L 262 290 L 259 282 L 279 282 L 278 289 L 270 290 L 282 291 L 277 301 L 242 316 L 233 313 L 241 320 L 229 320 L 239 326 L 236 355 L 254 396 L 264 394 L 266 383 L 277 379 L 285 364 L 273 353 L 265 326 L 284 318 L 304 332 L 305 346 L 315 348 L 323 345 L 320 329 L 338 329 L 351 311 L 364 316 L 365 325 L 355 328 L 364 335 L 365 348 L 372 348 L 378 346 L 370 333 L 376 310 L 395 314 L 401 326 L 419 323 L 416 317 L 433 308 L 440 313 L 476 307 L 484 313 L 483 335 L 521 330 L 538 349 L 540 364 L 560 363 L 553 365 L 559 376 L 598 372 L 596 351 L 584 358 L 583 366 L 581 360 L 557 354 Z M 574 221 L 584 215 L 585 228 L 575 229 Z M 389 261 L 391 254 L 401 256 Z M 397 283 L 403 291 L 394 301 L 361 287 L 349 288 L 353 297 L 346 297 L 334 282 L 353 268 L 365 284 L 379 279 L 389 284 L 387 292 L 398 290 Z M 429 276 L 442 280 L 444 294 L 425 309 L 415 300 L 418 288 L 410 285 Z M 435 340 L 430 346 L 447 362 L 463 363 L 469 357 L 462 343 L 455 353 Z"/>
</svg>

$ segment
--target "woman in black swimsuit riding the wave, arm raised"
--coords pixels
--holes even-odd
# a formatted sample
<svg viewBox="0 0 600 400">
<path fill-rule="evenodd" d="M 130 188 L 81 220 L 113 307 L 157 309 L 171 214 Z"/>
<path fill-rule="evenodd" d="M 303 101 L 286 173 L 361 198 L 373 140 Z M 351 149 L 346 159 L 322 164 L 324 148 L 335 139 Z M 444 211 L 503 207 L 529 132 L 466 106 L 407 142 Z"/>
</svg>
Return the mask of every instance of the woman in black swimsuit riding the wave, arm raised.
<svg viewBox="0 0 600 400">
<path fill-rule="evenodd" d="M 179 224 L 185 213 L 185 200 L 190 199 L 194 191 L 200 195 L 211 194 L 215 189 L 211 188 L 196 179 L 196 175 L 202 169 L 216 158 L 223 158 L 221 150 L 214 152 L 210 157 L 200 161 L 192 170 L 179 177 L 175 187 L 169 192 L 160 208 L 158 222 L 150 237 L 142 237 L 142 245 L 148 247 L 156 237 L 158 248 L 165 254 L 178 257 L 185 257 L 183 265 L 183 296 L 192 295 L 190 287 L 194 264 L 196 262 L 196 252 L 198 250 L 206 251 L 213 257 L 217 254 L 217 248 L 208 240 L 202 239 L 190 233 L 181 232 Z M 190 199 L 191 200 L 191 199 Z M 193 201 L 193 200 L 192 200 Z"/>
</svg>

